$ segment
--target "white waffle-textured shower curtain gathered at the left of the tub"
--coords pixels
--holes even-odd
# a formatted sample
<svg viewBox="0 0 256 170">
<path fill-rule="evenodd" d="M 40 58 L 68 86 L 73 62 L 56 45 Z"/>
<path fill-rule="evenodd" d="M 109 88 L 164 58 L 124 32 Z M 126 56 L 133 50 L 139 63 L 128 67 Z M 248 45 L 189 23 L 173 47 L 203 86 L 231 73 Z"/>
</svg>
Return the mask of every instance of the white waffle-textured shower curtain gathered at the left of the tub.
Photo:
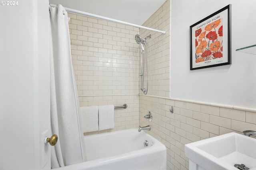
<svg viewBox="0 0 256 170">
<path fill-rule="evenodd" d="M 80 107 L 72 67 L 68 15 L 61 5 L 50 11 L 50 105 L 52 134 L 59 137 L 51 147 L 52 168 L 86 161 Z"/>
</svg>

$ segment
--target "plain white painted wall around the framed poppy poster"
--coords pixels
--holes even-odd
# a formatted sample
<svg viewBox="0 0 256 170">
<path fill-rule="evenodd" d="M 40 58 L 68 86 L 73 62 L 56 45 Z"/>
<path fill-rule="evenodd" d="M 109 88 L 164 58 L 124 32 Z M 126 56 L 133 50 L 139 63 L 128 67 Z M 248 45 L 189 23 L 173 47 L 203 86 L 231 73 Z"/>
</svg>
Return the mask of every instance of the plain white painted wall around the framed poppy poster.
<svg viewBox="0 0 256 170">
<path fill-rule="evenodd" d="M 228 4 L 232 4 L 232 64 L 190 70 L 190 25 Z M 256 57 L 235 51 L 256 43 L 255 8 L 254 0 L 172 0 L 171 98 L 256 107 Z"/>
</svg>

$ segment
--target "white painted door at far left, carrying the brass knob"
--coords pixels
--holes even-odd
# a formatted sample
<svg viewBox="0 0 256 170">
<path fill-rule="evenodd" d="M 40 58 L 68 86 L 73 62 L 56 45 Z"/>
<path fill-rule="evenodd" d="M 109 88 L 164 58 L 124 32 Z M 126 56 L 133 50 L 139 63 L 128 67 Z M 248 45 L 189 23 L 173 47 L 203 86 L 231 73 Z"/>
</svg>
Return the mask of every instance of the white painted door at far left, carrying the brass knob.
<svg viewBox="0 0 256 170">
<path fill-rule="evenodd" d="M 41 170 L 40 134 L 50 131 L 48 2 L 18 3 L 0 6 L 0 169 Z"/>
</svg>

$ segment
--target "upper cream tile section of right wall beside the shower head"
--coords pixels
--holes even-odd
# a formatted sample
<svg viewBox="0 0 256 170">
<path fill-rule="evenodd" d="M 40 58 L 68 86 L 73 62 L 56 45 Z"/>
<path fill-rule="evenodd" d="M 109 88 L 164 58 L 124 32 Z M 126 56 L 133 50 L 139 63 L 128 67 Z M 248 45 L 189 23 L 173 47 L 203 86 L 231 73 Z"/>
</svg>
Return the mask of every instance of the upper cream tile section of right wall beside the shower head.
<svg viewBox="0 0 256 170">
<path fill-rule="evenodd" d="M 167 0 L 144 24 L 145 27 L 166 31 L 162 34 L 140 29 L 148 47 L 148 95 L 170 96 L 170 0 Z M 146 71 L 146 70 L 145 70 Z M 146 76 L 146 75 L 145 75 Z M 145 77 L 146 78 L 146 77 Z M 145 86 L 144 82 L 144 86 Z M 140 91 L 140 94 L 143 92 Z"/>
</svg>

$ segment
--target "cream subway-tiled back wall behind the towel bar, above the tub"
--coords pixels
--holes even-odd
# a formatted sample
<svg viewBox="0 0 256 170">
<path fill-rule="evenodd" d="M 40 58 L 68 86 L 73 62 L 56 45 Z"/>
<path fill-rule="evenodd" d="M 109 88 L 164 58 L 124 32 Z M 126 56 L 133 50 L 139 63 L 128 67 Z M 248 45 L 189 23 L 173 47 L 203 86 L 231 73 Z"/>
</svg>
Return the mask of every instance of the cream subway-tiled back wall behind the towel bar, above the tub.
<svg viewBox="0 0 256 170">
<path fill-rule="evenodd" d="M 138 127 L 139 29 L 110 21 L 68 14 L 72 63 L 80 106 L 108 105 L 116 131 Z M 98 133 L 90 132 L 86 134 Z M 85 135 L 86 135 L 85 134 Z"/>
</svg>

